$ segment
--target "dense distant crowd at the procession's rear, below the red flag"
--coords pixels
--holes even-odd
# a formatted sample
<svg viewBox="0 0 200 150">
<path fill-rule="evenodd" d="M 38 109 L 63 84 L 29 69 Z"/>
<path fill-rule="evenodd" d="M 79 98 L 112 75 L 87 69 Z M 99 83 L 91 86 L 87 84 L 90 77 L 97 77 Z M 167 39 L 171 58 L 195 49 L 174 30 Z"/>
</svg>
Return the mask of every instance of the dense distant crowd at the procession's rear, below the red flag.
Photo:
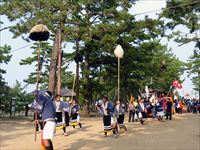
<svg viewBox="0 0 200 150">
<path fill-rule="evenodd" d="M 147 117 L 157 118 L 158 120 L 162 120 L 165 117 L 166 120 L 172 120 L 172 114 L 182 114 L 183 110 L 185 112 L 200 113 L 200 100 L 174 99 L 164 94 L 159 96 L 152 95 L 150 98 L 144 99 L 139 96 L 138 100 L 131 99 L 127 105 L 129 114 L 128 121 L 134 122 L 140 119 L 141 124 L 143 124 L 141 118 Z M 144 109 L 140 109 L 141 106 Z"/>
</svg>

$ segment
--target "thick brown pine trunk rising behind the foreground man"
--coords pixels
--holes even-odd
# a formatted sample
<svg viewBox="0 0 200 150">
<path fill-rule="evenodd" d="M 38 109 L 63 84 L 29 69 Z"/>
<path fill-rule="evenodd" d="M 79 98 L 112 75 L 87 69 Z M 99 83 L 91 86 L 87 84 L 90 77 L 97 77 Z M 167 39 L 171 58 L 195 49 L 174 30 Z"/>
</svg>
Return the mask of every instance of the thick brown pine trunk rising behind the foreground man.
<svg viewBox="0 0 200 150">
<path fill-rule="evenodd" d="M 57 62 L 58 62 L 58 51 L 61 45 L 61 32 L 57 31 L 54 41 L 54 47 L 51 53 L 51 64 L 49 71 L 49 83 L 48 90 L 52 93 L 55 93 L 55 85 L 56 85 L 56 70 L 57 70 Z"/>
</svg>

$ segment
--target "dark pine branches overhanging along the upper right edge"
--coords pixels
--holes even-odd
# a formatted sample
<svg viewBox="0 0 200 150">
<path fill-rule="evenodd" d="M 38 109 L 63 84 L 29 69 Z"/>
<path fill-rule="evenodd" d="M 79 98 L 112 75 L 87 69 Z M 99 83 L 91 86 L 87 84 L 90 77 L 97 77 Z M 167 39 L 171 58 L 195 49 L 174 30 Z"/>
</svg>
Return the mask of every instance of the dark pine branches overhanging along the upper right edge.
<svg viewBox="0 0 200 150">
<path fill-rule="evenodd" d="M 172 33 L 171 38 L 178 43 L 180 46 L 188 44 L 190 42 L 195 43 L 194 54 L 190 57 L 189 63 L 187 64 L 187 70 L 189 75 L 193 74 L 192 79 L 195 85 L 195 90 L 199 91 L 200 94 L 200 78 L 199 78 L 199 51 L 200 51 L 200 1 L 199 0 L 184 0 L 176 1 L 172 0 L 167 3 L 167 8 L 164 9 L 161 17 L 168 18 L 165 27 L 168 29 L 175 29 L 179 25 L 182 25 L 188 29 L 188 32 L 175 31 Z"/>
</svg>

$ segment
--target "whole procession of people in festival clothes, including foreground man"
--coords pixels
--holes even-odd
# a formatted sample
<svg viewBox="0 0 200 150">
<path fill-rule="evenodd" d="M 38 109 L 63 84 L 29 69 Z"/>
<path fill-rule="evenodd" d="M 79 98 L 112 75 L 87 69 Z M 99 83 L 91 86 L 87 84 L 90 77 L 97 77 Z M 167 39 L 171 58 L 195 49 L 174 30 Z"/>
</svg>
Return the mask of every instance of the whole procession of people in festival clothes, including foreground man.
<svg viewBox="0 0 200 150">
<path fill-rule="evenodd" d="M 42 130 L 42 145 L 46 150 L 53 150 L 52 139 L 56 127 L 63 129 L 64 136 L 67 136 L 67 128 L 71 125 L 73 128 L 79 126 L 82 128 L 79 115 L 79 107 L 75 99 L 69 101 L 61 100 L 60 95 L 55 98 L 50 91 L 45 93 L 37 92 L 36 99 L 31 107 L 34 110 L 34 120 L 36 131 Z M 107 96 L 103 96 L 96 103 L 98 112 L 102 114 L 103 128 L 105 136 L 112 131 L 114 137 L 123 130 L 127 132 L 125 126 L 125 113 L 128 112 L 128 122 L 140 122 L 144 124 L 147 118 L 157 118 L 159 121 L 172 120 L 174 113 L 183 113 L 184 110 L 192 113 L 200 113 L 200 100 L 195 99 L 173 99 L 167 95 L 152 94 L 149 98 L 138 96 L 137 99 L 131 96 L 127 104 L 123 101 L 109 101 Z"/>
</svg>

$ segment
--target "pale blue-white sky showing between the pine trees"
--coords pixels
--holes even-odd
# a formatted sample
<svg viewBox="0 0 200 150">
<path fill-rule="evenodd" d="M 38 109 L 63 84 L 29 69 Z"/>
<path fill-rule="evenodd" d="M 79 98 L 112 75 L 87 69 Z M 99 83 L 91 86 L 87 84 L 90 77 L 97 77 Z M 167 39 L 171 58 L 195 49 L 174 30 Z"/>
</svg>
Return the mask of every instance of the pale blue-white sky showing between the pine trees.
<svg viewBox="0 0 200 150">
<path fill-rule="evenodd" d="M 140 14 L 143 12 L 148 12 L 152 10 L 159 10 L 161 8 L 164 8 L 166 6 L 165 0 L 140 0 L 136 2 L 136 5 L 133 6 L 133 8 L 130 10 L 133 14 Z M 159 11 L 157 12 L 159 13 Z M 147 14 L 138 15 L 137 19 L 143 18 Z M 156 17 L 156 13 L 148 13 L 149 17 Z M 10 22 L 7 21 L 6 17 L 1 16 L 1 20 L 5 23 L 1 25 L 1 27 L 6 27 L 10 25 Z M 184 30 L 184 29 L 183 29 Z M 10 33 L 8 30 L 0 32 L 0 40 L 1 40 L 1 46 L 4 44 L 11 45 L 12 50 L 16 50 L 18 48 L 21 48 L 23 46 L 26 46 L 30 43 L 27 43 L 21 39 L 21 37 L 17 39 L 12 39 L 12 33 Z M 27 35 L 28 36 L 28 35 Z M 172 48 L 173 53 L 182 61 L 187 62 L 188 57 L 192 54 L 194 49 L 194 44 L 187 44 L 183 45 L 181 47 L 178 47 L 177 43 L 174 43 L 173 41 L 167 41 L 163 40 L 164 43 L 168 43 L 168 47 Z M 13 87 L 15 84 L 15 81 L 18 80 L 23 83 L 23 79 L 28 77 L 28 74 L 35 70 L 36 67 L 33 64 L 30 66 L 20 66 L 19 62 L 21 59 L 27 58 L 28 56 L 31 56 L 32 50 L 30 50 L 29 47 L 16 50 L 12 52 L 12 59 L 9 62 L 8 65 L 1 65 L 0 67 L 3 69 L 6 69 L 7 73 L 4 75 L 5 81 L 8 82 L 8 85 Z M 70 70 L 74 71 L 75 67 L 74 65 L 71 65 Z M 183 83 L 183 89 L 180 90 L 180 94 L 183 95 L 183 93 L 189 93 L 192 92 L 192 83 L 189 78 L 186 77 L 186 74 L 182 76 L 182 78 L 185 78 L 185 82 Z M 35 88 L 35 85 L 29 85 L 27 87 L 27 91 L 31 91 Z M 193 92 L 194 93 L 194 92 Z"/>
</svg>

